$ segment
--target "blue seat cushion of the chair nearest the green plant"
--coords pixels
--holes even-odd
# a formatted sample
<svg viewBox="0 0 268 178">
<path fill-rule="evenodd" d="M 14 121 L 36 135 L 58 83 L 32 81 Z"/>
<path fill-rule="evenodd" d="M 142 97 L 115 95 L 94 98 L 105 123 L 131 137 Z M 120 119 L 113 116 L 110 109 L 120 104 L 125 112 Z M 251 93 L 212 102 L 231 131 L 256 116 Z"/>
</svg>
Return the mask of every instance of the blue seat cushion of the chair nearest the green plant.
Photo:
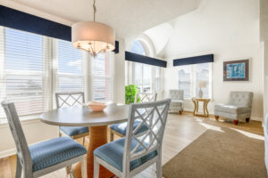
<svg viewBox="0 0 268 178">
<path fill-rule="evenodd" d="M 133 130 L 135 130 L 135 128 L 137 128 L 137 126 L 140 124 L 140 121 L 138 120 L 135 120 L 134 121 L 134 124 L 133 124 Z M 127 133 L 127 127 L 128 127 L 128 123 L 125 122 L 125 123 L 120 123 L 120 124 L 115 124 L 115 125 L 111 125 L 110 128 L 112 130 L 114 130 L 115 132 L 117 133 L 120 133 L 124 136 L 126 136 L 126 133 Z M 137 131 L 136 134 L 140 134 L 140 133 L 143 133 L 145 131 L 148 130 L 148 127 L 147 125 L 143 124 Z"/>
</svg>

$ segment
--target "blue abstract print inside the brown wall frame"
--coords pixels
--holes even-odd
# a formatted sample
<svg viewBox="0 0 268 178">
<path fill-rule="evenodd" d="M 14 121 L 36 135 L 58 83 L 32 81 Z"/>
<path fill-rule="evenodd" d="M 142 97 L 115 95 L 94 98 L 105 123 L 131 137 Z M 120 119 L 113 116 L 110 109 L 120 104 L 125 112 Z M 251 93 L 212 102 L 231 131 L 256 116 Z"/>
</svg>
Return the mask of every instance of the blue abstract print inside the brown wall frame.
<svg viewBox="0 0 268 178">
<path fill-rule="evenodd" d="M 227 78 L 245 78 L 246 63 L 231 63 L 226 65 Z"/>
</svg>

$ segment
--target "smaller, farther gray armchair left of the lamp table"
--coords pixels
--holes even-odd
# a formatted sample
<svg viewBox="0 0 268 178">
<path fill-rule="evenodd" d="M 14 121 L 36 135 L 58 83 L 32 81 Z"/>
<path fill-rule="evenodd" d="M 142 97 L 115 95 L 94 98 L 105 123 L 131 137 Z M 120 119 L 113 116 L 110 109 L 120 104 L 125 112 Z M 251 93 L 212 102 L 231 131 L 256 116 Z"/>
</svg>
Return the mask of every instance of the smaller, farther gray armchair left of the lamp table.
<svg viewBox="0 0 268 178">
<path fill-rule="evenodd" d="M 170 98 L 172 99 L 170 111 L 178 110 L 179 113 L 183 111 L 183 90 L 170 90 Z"/>
</svg>

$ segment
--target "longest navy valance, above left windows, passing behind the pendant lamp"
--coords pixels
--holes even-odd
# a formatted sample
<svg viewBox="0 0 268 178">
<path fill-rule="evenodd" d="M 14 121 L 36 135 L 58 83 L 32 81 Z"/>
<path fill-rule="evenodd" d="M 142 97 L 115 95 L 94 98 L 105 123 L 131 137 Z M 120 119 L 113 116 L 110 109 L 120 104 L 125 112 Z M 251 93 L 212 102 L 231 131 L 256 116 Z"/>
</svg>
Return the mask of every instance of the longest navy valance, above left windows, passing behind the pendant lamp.
<svg viewBox="0 0 268 178">
<path fill-rule="evenodd" d="M 20 12 L 0 5 L 0 26 L 20 29 L 41 36 L 50 36 L 71 42 L 71 27 L 52 20 L 46 20 L 26 12 Z M 119 53 L 119 43 L 115 41 L 114 53 Z"/>
</svg>

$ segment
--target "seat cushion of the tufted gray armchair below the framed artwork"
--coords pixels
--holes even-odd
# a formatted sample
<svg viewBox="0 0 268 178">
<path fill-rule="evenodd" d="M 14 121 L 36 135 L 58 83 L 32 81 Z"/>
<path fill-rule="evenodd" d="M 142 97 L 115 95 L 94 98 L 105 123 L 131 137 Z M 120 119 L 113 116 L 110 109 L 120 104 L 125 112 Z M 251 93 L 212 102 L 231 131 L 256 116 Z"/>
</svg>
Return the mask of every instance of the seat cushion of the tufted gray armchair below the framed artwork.
<svg viewBox="0 0 268 178">
<path fill-rule="evenodd" d="M 251 112 L 250 108 L 231 105 L 231 104 L 216 104 L 214 106 L 214 110 L 220 111 L 220 112 L 232 113 L 232 114 L 242 114 L 242 113 Z"/>
</svg>

